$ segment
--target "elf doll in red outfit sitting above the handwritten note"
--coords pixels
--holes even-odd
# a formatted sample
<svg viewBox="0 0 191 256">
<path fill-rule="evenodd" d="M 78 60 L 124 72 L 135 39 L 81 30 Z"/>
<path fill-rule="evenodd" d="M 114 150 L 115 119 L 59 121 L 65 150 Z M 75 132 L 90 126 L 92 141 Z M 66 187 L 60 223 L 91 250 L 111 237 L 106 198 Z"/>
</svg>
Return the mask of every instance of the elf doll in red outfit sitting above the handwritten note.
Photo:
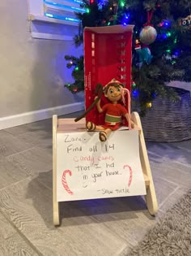
<svg viewBox="0 0 191 256">
<path fill-rule="evenodd" d="M 112 79 L 103 89 L 104 96 L 108 98 L 108 103 L 100 106 L 100 99 L 96 103 L 99 113 L 105 113 L 104 125 L 96 125 L 87 122 L 87 131 L 100 131 L 100 141 L 107 141 L 112 131 L 116 131 L 122 125 L 122 116 L 125 117 L 129 129 L 135 128 L 135 124 L 130 119 L 130 95 L 129 90 L 124 88 L 120 81 Z M 128 98 L 128 110 L 125 108 L 125 94 Z M 97 97 L 96 97 L 97 98 Z"/>
</svg>

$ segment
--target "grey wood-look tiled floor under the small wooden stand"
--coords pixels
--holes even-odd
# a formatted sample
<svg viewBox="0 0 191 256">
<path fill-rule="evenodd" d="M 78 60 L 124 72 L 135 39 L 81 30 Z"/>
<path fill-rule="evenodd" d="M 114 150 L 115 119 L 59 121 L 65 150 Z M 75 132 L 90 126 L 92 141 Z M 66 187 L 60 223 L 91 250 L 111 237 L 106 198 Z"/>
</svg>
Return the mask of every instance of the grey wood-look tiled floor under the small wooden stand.
<svg viewBox="0 0 191 256">
<path fill-rule="evenodd" d="M 142 197 L 63 202 L 62 225 L 54 228 L 52 120 L 0 131 L 0 255 L 125 255 L 191 188 L 191 141 L 147 149 L 155 218 Z"/>
</svg>

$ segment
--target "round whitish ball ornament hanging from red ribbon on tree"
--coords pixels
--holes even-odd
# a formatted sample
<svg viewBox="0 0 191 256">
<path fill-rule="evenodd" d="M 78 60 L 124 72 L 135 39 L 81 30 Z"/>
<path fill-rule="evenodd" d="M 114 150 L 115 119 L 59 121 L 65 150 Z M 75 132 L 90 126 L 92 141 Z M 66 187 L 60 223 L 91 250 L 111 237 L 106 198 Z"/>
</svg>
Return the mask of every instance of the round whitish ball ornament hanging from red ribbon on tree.
<svg viewBox="0 0 191 256">
<path fill-rule="evenodd" d="M 151 45 L 151 43 L 153 43 L 157 37 L 157 33 L 155 28 L 153 28 L 152 26 L 146 26 L 144 28 L 142 28 L 142 31 L 139 35 L 140 37 L 140 41 L 143 44 L 146 45 Z"/>
</svg>

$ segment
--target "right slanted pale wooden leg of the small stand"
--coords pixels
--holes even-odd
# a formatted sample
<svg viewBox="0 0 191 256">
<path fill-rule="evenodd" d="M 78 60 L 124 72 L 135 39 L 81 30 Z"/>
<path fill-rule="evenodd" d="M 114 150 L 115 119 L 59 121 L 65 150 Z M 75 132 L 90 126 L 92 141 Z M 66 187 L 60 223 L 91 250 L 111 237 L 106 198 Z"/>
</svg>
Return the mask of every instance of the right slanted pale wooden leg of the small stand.
<svg viewBox="0 0 191 256">
<path fill-rule="evenodd" d="M 139 154 L 140 154 L 143 174 L 147 176 L 149 180 L 149 184 L 148 186 L 146 186 L 146 196 L 145 196 L 146 206 L 150 214 L 155 215 L 158 210 L 158 203 L 156 199 L 155 186 L 152 179 L 149 158 L 146 150 L 145 139 L 142 132 L 141 119 L 137 112 L 133 112 L 131 114 L 131 119 L 134 121 L 134 124 L 137 124 L 138 127 L 141 128 L 141 132 L 139 134 Z"/>
</svg>

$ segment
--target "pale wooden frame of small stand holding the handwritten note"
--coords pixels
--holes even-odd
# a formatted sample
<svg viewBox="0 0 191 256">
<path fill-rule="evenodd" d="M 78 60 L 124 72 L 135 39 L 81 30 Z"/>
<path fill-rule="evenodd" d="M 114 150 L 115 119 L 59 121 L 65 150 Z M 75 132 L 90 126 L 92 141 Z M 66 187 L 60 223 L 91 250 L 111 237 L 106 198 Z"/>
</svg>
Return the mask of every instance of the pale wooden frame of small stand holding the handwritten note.
<svg viewBox="0 0 191 256">
<path fill-rule="evenodd" d="M 155 187 L 151 174 L 151 167 L 146 151 L 145 139 L 142 132 L 142 124 L 137 112 L 131 114 L 134 124 L 141 128 L 139 133 L 139 154 L 142 165 L 142 172 L 146 185 L 146 206 L 151 215 L 155 215 L 158 210 L 158 203 L 155 195 Z M 81 119 L 78 123 L 74 119 L 57 119 L 57 115 L 53 115 L 53 224 L 60 224 L 59 202 L 57 202 L 57 133 L 60 132 L 83 132 L 85 129 L 85 119 Z"/>
</svg>

